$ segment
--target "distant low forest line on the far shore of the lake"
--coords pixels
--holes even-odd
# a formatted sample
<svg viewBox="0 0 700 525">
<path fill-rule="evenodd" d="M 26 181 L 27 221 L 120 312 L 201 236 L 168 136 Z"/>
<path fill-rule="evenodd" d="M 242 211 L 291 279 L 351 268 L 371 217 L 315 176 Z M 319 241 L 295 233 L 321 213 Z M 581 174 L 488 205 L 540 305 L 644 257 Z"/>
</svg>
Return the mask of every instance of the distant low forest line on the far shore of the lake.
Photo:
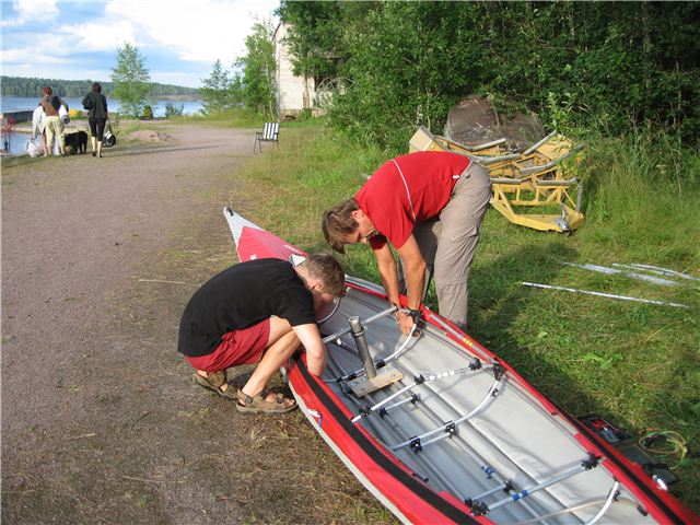
<svg viewBox="0 0 700 525">
<path fill-rule="evenodd" d="M 58 80 L 58 79 L 34 79 L 26 77 L 2 77 L 2 96 L 28 96 L 38 97 L 45 85 L 50 85 L 59 96 L 82 97 L 92 86 L 92 80 Z M 101 82 L 102 91 L 109 96 L 113 90 L 112 82 Z M 167 98 L 198 98 L 199 90 L 184 88 L 182 85 L 151 83 L 149 92 L 151 97 Z"/>
</svg>

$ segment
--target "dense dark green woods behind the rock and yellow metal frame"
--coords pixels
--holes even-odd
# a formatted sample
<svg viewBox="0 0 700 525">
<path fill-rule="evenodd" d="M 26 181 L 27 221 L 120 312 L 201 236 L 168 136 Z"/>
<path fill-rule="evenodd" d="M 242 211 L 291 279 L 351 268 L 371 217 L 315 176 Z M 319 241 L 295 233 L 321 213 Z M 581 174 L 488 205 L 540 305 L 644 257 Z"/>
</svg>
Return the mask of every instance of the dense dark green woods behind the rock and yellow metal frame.
<svg viewBox="0 0 700 525">
<path fill-rule="evenodd" d="M 330 119 L 402 148 L 479 94 L 550 128 L 653 128 L 697 144 L 700 2 L 293 2 L 279 14 L 296 73 L 342 89 Z"/>
</svg>

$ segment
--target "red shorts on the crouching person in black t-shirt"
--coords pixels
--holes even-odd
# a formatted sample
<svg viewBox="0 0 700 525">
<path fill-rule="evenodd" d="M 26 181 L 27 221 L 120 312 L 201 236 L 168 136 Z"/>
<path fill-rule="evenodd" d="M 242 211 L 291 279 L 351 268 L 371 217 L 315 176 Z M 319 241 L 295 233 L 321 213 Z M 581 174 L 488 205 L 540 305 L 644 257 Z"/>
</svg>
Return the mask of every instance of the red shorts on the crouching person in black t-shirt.
<svg viewBox="0 0 700 525">
<path fill-rule="evenodd" d="M 189 364 L 205 372 L 220 372 L 240 364 L 257 363 L 270 338 L 270 319 L 265 319 L 243 330 L 224 334 L 221 342 L 208 355 L 190 358 Z"/>
</svg>

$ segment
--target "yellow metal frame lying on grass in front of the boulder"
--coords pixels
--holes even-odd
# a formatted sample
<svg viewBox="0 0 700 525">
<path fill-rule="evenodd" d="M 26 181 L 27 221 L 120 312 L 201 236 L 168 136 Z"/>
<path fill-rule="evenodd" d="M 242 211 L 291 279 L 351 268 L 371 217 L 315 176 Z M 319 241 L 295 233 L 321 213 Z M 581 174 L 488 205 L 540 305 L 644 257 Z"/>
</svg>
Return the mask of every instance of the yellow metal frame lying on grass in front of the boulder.
<svg viewBox="0 0 700 525">
<path fill-rule="evenodd" d="M 514 224 L 570 234 L 583 224 L 583 191 L 575 177 L 567 178 L 562 162 L 579 151 L 553 132 L 521 153 L 511 153 L 505 139 L 470 147 L 432 135 L 420 127 L 409 141 L 409 153 L 452 151 L 478 162 L 491 175 L 491 206 Z M 535 211 L 542 211 L 535 213 Z"/>
</svg>

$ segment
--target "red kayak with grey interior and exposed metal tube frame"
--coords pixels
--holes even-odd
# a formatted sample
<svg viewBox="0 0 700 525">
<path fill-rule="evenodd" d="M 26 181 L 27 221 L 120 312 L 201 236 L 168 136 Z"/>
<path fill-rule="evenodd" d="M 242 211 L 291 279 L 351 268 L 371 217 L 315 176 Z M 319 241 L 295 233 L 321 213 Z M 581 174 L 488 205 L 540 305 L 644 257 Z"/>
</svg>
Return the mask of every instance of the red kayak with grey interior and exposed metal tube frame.
<svg viewBox="0 0 700 525">
<path fill-rule="evenodd" d="M 238 260 L 307 255 L 230 208 Z M 347 277 L 319 314 L 323 377 L 298 352 L 299 407 L 404 523 L 699 523 L 663 482 L 436 313 L 400 334 L 382 287 Z"/>
</svg>

